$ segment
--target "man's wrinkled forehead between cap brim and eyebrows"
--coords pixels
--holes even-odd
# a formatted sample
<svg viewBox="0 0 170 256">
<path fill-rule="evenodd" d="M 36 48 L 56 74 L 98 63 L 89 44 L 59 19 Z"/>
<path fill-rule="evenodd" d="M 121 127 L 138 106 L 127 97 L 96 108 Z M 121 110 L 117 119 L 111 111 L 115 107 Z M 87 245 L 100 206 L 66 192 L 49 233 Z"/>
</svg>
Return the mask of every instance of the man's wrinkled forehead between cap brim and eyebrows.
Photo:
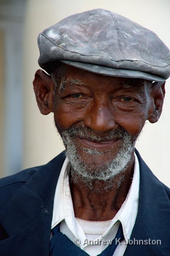
<svg viewBox="0 0 170 256">
<path fill-rule="evenodd" d="M 131 90 L 136 90 L 136 92 L 144 92 L 144 88 L 149 89 L 153 83 L 152 81 L 140 78 L 105 76 L 68 66 L 67 64 L 62 64 L 51 76 L 60 90 L 65 90 L 68 87 L 82 87 L 86 85 L 93 89 L 94 84 L 95 86 L 102 84 L 105 88 L 109 86 L 115 89 L 130 88 Z"/>
</svg>

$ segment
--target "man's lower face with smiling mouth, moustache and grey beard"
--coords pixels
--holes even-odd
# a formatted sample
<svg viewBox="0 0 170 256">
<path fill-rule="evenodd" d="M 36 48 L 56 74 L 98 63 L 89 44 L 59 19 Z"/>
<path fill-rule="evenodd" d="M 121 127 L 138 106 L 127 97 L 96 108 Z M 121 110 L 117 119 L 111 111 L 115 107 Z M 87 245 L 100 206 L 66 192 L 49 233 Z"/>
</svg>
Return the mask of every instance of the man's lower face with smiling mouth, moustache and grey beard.
<svg viewBox="0 0 170 256">
<path fill-rule="evenodd" d="M 89 128 L 73 126 L 67 131 L 60 130 L 59 134 L 66 147 L 74 183 L 82 182 L 93 190 L 94 183 L 101 181 L 104 183 L 100 190 L 105 190 L 115 185 L 116 175 L 122 173 L 123 177 L 134 151 L 132 138 L 123 128 L 96 135 Z M 103 155 L 108 156 L 104 162 Z"/>
</svg>

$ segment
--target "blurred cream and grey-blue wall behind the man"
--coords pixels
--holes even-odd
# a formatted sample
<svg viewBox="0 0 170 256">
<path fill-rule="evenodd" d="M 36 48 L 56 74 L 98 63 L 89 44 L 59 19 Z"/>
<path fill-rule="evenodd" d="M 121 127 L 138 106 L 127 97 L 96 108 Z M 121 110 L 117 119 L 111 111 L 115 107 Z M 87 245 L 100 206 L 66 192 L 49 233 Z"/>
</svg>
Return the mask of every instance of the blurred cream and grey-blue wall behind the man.
<svg viewBox="0 0 170 256">
<path fill-rule="evenodd" d="M 63 150 L 53 115 L 40 114 L 32 89 L 39 68 L 37 35 L 68 15 L 95 8 L 153 30 L 170 48 L 169 0 L 0 0 L 1 177 L 47 163 Z M 136 147 L 155 175 L 170 186 L 170 79 L 166 88 L 159 122 L 146 123 Z"/>
</svg>

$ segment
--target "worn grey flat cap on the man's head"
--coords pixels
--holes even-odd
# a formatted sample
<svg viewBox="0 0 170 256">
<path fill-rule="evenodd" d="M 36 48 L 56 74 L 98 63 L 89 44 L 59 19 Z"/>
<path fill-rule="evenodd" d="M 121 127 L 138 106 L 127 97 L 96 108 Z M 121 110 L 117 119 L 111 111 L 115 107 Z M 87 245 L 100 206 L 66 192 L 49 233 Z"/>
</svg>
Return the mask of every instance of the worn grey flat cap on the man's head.
<svg viewBox="0 0 170 256">
<path fill-rule="evenodd" d="M 165 81 L 170 50 L 149 29 L 116 13 L 94 9 L 71 15 L 38 36 L 40 67 L 59 61 L 108 76 Z"/>
</svg>

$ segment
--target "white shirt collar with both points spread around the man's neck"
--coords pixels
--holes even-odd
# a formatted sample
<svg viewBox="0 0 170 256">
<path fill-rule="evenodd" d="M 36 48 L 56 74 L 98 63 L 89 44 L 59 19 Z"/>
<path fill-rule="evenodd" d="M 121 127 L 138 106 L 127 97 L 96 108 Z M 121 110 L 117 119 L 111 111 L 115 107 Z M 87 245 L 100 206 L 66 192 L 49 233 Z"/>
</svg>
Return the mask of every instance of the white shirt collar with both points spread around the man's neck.
<svg viewBox="0 0 170 256">
<path fill-rule="evenodd" d="M 68 158 L 65 159 L 57 182 L 56 192 L 54 195 L 54 209 L 51 229 L 54 228 L 59 222 L 65 220 L 68 228 L 71 230 L 75 237 L 79 237 L 79 228 L 74 216 L 73 202 L 71 198 L 71 191 L 69 186 L 69 170 Z M 130 186 L 127 197 L 122 204 L 122 207 L 112 219 L 111 226 L 106 230 L 102 237 L 106 236 L 119 220 L 122 223 L 123 233 L 126 242 L 130 239 L 133 226 L 136 221 L 139 202 L 139 161 L 135 154 L 134 174 L 132 184 Z M 117 227 L 117 225 L 116 225 Z M 117 227 L 118 228 L 118 227 Z M 116 228 L 116 229 L 117 229 Z M 115 232 L 114 232 L 115 233 Z"/>
</svg>

